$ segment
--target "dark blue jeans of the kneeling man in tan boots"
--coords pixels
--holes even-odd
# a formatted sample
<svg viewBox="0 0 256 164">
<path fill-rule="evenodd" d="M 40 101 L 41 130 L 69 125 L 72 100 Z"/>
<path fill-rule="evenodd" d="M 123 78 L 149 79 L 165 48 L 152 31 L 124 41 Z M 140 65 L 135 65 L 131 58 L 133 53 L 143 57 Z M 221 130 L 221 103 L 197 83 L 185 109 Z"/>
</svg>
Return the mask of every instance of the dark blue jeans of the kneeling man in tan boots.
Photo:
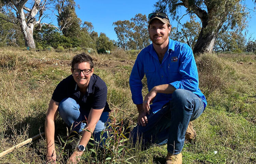
<svg viewBox="0 0 256 164">
<path fill-rule="evenodd" d="M 147 114 L 145 127 L 137 125 L 132 130 L 133 143 L 142 140 L 142 144 L 167 143 L 167 151 L 179 154 L 184 146 L 185 133 L 189 121 L 197 119 L 204 111 L 201 98 L 193 92 L 176 89 L 172 99 L 162 109 Z"/>
</svg>

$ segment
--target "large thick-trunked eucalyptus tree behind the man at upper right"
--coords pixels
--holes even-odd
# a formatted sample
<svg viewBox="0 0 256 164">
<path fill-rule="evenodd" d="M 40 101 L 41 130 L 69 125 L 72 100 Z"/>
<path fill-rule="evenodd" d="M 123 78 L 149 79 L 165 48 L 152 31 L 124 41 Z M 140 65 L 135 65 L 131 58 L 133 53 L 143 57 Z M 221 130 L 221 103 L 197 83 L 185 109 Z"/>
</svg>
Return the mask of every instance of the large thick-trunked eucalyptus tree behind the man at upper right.
<svg viewBox="0 0 256 164">
<path fill-rule="evenodd" d="M 256 2 L 256 0 L 255 0 Z M 248 11 L 243 0 L 158 0 L 156 11 L 169 12 L 176 20 L 183 18 L 180 8 L 186 14 L 196 14 L 201 20 L 201 31 L 193 52 L 212 52 L 218 32 L 222 30 L 243 30 L 246 27 Z"/>
</svg>

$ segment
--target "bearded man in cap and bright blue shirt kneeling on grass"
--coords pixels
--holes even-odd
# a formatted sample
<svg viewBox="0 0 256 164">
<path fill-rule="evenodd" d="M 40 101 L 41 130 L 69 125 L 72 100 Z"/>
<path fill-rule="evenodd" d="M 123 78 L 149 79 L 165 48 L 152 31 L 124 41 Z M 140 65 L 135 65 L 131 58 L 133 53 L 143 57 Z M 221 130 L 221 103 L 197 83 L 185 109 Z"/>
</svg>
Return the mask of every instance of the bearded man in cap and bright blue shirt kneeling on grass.
<svg viewBox="0 0 256 164">
<path fill-rule="evenodd" d="M 132 100 L 139 112 L 132 139 L 137 142 L 142 138 L 143 144 L 167 143 L 166 163 L 182 163 L 186 129 L 186 136 L 193 135 L 189 122 L 201 115 L 207 102 L 198 88 L 197 66 L 191 48 L 169 39 L 170 31 L 166 13 L 148 15 L 148 32 L 153 44 L 139 53 L 129 81 Z M 141 80 L 144 75 L 149 92 L 143 101 Z"/>
</svg>

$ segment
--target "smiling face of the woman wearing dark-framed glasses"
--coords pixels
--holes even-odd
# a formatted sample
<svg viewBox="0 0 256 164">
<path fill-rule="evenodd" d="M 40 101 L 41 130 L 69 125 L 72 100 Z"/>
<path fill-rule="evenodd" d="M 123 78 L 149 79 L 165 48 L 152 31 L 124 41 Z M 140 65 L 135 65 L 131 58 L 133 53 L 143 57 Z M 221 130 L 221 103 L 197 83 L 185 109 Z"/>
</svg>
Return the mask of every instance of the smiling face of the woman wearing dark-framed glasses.
<svg viewBox="0 0 256 164">
<path fill-rule="evenodd" d="M 73 78 L 79 86 L 79 88 L 86 88 L 90 82 L 91 76 L 93 75 L 94 68 L 91 69 L 90 64 L 88 62 L 81 62 L 75 63 L 74 68 L 71 68 L 71 71 Z"/>
</svg>

